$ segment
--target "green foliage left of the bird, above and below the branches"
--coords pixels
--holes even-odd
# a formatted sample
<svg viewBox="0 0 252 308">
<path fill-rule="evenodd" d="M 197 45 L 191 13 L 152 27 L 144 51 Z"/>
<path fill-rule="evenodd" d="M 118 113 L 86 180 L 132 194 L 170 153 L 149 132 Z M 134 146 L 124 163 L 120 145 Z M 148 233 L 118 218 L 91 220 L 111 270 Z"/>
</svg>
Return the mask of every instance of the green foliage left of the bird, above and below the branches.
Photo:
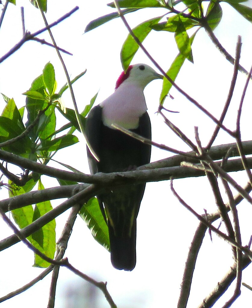
<svg viewBox="0 0 252 308">
<path fill-rule="evenodd" d="M 74 83 L 81 76 L 85 74 L 85 71 L 80 75 L 76 76 L 71 83 Z M 17 109 L 13 99 L 8 98 L 2 94 L 5 100 L 5 107 L 0 116 L 0 142 L 8 141 L 9 144 L 3 147 L 4 150 L 12 152 L 14 154 L 26 157 L 33 161 L 39 161 L 40 163 L 47 164 L 52 156 L 59 150 L 71 146 L 78 142 L 76 136 L 72 135 L 75 129 L 79 128 L 75 112 L 72 109 L 66 109 L 62 107 L 60 97 L 62 93 L 67 90 L 68 86 L 64 85 L 60 94 L 55 93 L 56 91 L 56 80 L 55 71 L 51 63 L 47 63 L 43 69 L 43 74 L 38 76 L 31 84 L 28 91 L 23 94 L 26 95 L 26 106 Z M 84 110 L 81 113 L 81 118 L 85 123 L 85 117 L 90 111 L 97 94 L 91 99 Z M 55 108 L 57 107 L 57 108 Z M 56 128 L 56 112 L 59 110 L 60 113 L 70 122 L 65 124 L 59 130 L 55 131 Z M 25 117 L 24 117 L 25 115 Z M 27 121 L 23 122 L 23 117 Z M 58 135 L 59 132 L 70 128 L 67 134 Z M 20 136 L 20 134 L 23 134 Z M 13 139 L 17 138 L 17 139 Z M 79 172 L 70 165 L 60 163 L 64 167 L 69 168 L 72 172 Z M 10 197 L 19 196 L 21 194 L 30 192 L 34 189 L 36 183 L 39 181 L 38 190 L 43 190 L 44 186 L 41 183 L 40 175 L 35 172 L 29 172 L 29 180 L 24 186 L 17 186 L 9 180 L 10 185 Z M 60 180 L 60 184 L 76 184 L 69 181 Z M 91 202 L 91 201 L 90 201 Z M 89 203 L 88 203 L 89 205 Z M 91 202 L 89 209 L 93 209 L 95 202 Z M 33 209 L 32 205 L 28 205 L 12 211 L 14 221 L 19 228 L 24 228 L 31 224 L 33 221 L 43 216 L 45 213 L 52 209 L 50 201 L 44 201 L 35 205 Z M 97 211 L 100 209 L 95 208 L 94 217 L 92 211 L 89 212 L 89 221 L 94 221 L 96 226 L 96 232 L 98 235 L 99 242 L 106 248 L 109 247 L 108 234 L 107 237 L 104 235 L 106 228 L 101 225 L 99 221 Z M 100 212 L 101 215 L 101 212 Z M 102 216 L 101 216 L 102 217 Z M 100 229 L 101 225 L 101 229 Z M 89 226 L 90 223 L 89 223 Z M 93 228 L 92 228 L 93 229 Z M 102 235 L 103 234 L 103 235 Z M 42 253 L 48 257 L 53 258 L 55 253 L 55 220 L 52 220 L 47 225 L 36 231 L 27 239 Z M 103 242 L 102 242 L 103 241 Z M 48 262 L 44 261 L 41 257 L 35 255 L 34 266 L 47 267 Z"/>
</svg>

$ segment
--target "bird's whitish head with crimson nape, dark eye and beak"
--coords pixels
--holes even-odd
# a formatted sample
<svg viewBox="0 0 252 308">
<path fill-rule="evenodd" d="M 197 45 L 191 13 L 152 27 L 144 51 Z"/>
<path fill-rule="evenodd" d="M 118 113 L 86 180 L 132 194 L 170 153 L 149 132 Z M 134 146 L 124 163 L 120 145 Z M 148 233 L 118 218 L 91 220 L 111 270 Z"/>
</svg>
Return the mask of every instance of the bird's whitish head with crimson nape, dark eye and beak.
<svg viewBox="0 0 252 308">
<path fill-rule="evenodd" d="M 144 89 L 148 83 L 150 83 L 154 79 L 163 79 L 163 75 L 158 74 L 154 71 L 152 67 L 147 64 L 139 63 L 130 65 L 127 71 L 119 76 L 115 90 L 121 84 L 134 84 L 142 89 Z"/>
</svg>

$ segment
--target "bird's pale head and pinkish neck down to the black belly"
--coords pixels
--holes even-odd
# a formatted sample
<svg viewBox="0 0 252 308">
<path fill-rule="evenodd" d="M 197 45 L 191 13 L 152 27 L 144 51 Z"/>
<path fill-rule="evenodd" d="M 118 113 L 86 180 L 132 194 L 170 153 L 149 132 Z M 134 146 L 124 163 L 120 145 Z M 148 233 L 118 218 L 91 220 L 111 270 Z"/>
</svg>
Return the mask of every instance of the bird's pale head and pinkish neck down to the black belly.
<svg viewBox="0 0 252 308">
<path fill-rule="evenodd" d="M 126 129 L 136 128 L 139 117 L 147 111 L 143 90 L 154 79 L 163 79 L 163 75 L 147 64 L 130 65 L 119 76 L 114 93 L 100 104 L 103 123 L 108 127 L 118 124 Z"/>
</svg>

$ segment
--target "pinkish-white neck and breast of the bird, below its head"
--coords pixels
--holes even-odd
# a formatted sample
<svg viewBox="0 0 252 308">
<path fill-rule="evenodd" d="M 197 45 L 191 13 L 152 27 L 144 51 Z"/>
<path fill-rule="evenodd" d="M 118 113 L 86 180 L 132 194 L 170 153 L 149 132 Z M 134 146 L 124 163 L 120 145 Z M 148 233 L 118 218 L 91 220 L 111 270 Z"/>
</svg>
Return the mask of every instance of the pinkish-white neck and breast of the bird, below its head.
<svg viewBox="0 0 252 308">
<path fill-rule="evenodd" d="M 147 111 L 143 89 L 134 84 L 121 84 L 101 104 L 103 124 L 117 124 L 126 129 L 138 128 L 139 118 Z"/>
</svg>

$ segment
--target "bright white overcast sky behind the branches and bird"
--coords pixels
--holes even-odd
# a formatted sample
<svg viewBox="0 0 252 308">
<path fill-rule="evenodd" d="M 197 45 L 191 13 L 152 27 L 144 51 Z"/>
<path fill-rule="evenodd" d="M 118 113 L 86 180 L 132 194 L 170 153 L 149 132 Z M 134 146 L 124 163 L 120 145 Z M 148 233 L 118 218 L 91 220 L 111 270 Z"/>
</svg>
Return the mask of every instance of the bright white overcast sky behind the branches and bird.
<svg viewBox="0 0 252 308">
<path fill-rule="evenodd" d="M 91 20 L 113 11 L 102 0 L 95 2 L 49 0 L 46 14 L 48 23 L 60 18 L 76 5 L 80 6 L 80 9 L 52 28 L 52 33 L 58 46 L 73 54 L 73 56 L 63 55 L 71 77 L 73 78 L 87 69 L 85 76 L 73 85 L 79 110 L 82 110 L 97 91 L 99 94 L 96 103 L 102 102 L 114 91 L 115 82 L 122 71 L 120 50 L 128 33 L 118 18 L 83 34 L 86 25 Z M 251 5 L 251 2 L 246 2 L 246 5 Z M 0 31 L 0 55 L 5 54 L 22 37 L 20 6 L 24 6 L 27 30 L 35 32 L 44 26 L 39 10 L 35 9 L 28 1 L 19 0 L 17 6 L 9 4 Z M 235 54 L 237 36 L 242 35 L 241 64 L 249 70 L 252 63 L 251 24 L 239 16 L 228 4 L 221 3 L 221 7 L 223 18 L 215 30 L 215 34 L 232 55 Z M 130 26 L 134 27 L 144 20 L 162 14 L 164 14 L 164 10 L 145 9 L 127 14 L 126 19 Z M 47 33 L 43 33 L 39 37 L 50 41 Z M 174 34 L 169 32 L 153 31 L 144 41 L 144 46 L 165 71 L 178 53 Z M 202 29 L 196 35 L 192 52 L 194 64 L 185 61 L 176 83 L 213 115 L 219 117 L 229 90 L 233 67 L 217 51 Z M 0 92 L 8 97 L 13 97 L 17 106 L 22 107 L 25 105 L 25 97 L 22 93 L 27 91 L 31 82 L 42 73 L 43 67 L 48 61 L 55 68 L 58 89 L 60 89 L 66 82 L 66 78 L 56 52 L 45 45 L 27 42 L 1 64 Z M 154 67 L 142 51 L 138 51 L 132 63 L 147 63 Z M 225 125 L 231 129 L 235 128 L 237 108 L 245 81 L 246 77 L 239 73 L 232 104 L 225 121 Z M 161 116 L 155 114 L 161 88 L 162 81 L 155 80 L 146 87 L 144 92 L 151 117 L 152 139 L 172 148 L 187 151 L 189 148 L 165 126 Z M 213 122 L 176 90 L 172 88 L 170 93 L 174 99 L 167 98 L 165 107 L 180 111 L 180 113 L 168 113 L 169 119 L 191 140 L 194 140 L 194 126 L 198 126 L 202 144 L 206 145 L 215 127 Z M 73 108 L 67 91 L 63 99 L 67 107 Z M 0 106 L 2 111 L 5 103 L 1 97 Z M 242 113 L 242 140 L 252 139 L 250 115 L 251 87 L 247 91 Z M 57 127 L 61 127 L 62 124 L 63 122 L 58 123 Z M 84 138 L 78 133 L 76 135 L 80 142 L 60 151 L 55 159 L 70 164 L 82 172 L 89 173 Z M 215 145 L 229 142 L 234 142 L 234 140 L 221 132 Z M 171 155 L 169 152 L 152 148 L 151 161 Z M 56 165 L 56 167 L 61 168 L 60 165 Z M 241 172 L 232 176 L 239 180 L 239 184 L 242 186 L 247 182 Z M 46 176 L 42 176 L 42 182 L 45 187 L 57 185 L 55 180 Z M 138 215 L 137 264 L 132 272 L 115 270 L 110 263 L 109 253 L 93 240 L 89 229 L 81 218 L 78 217 L 76 220 L 65 256 L 73 266 L 85 274 L 89 274 L 97 280 L 107 281 L 108 290 L 118 307 L 176 307 L 188 247 L 198 221 L 173 197 L 169 185 L 170 182 L 165 181 L 148 183 L 146 186 Z M 209 184 L 205 178 L 175 180 L 174 187 L 198 213 L 204 213 L 203 209 L 206 209 L 208 213 L 216 210 Z M 2 189 L 0 198 L 7 197 L 7 191 Z M 59 202 L 59 200 L 52 201 L 52 205 L 56 206 Z M 252 233 L 250 218 L 252 207 L 243 202 L 239 205 L 238 211 L 241 215 L 242 244 L 246 245 Z M 69 212 L 64 213 L 56 219 L 56 240 L 64 227 L 68 214 Z M 218 224 L 219 222 L 216 222 L 215 225 Z M 223 226 L 221 230 L 224 231 Z M 3 222 L 0 223 L 0 234 L 1 239 L 12 234 Z M 23 286 L 42 271 L 32 267 L 33 253 L 22 243 L 1 252 L 0 261 L 0 296 Z M 206 234 L 196 265 L 188 308 L 200 304 L 232 264 L 230 246 L 215 235 L 213 235 L 213 243 L 211 243 L 208 234 Z M 243 272 L 242 281 L 252 285 L 251 274 L 252 270 L 249 267 Z M 50 278 L 51 276 L 48 275 L 43 281 L 23 294 L 1 303 L 1 307 L 46 307 Z M 83 288 L 81 290 L 84 294 L 88 294 L 88 285 L 82 286 L 81 283 L 81 279 L 69 270 L 60 269 L 55 307 L 65 307 L 63 302 L 66 297 L 74 293 L 78 287 Z M 232 291 L 233 288 L 214 307 L 221 307 L 232 295 Z M 251 291 L 242 287 L 242 295 L 232 307 L 245 306 L 251 302 L 251 297 Z M 102 295 L 101 303 L 97 304 L 98 306 L 109 306 Z M 68 305 L 68 307 L 75 306 Z"/>
</svg>

